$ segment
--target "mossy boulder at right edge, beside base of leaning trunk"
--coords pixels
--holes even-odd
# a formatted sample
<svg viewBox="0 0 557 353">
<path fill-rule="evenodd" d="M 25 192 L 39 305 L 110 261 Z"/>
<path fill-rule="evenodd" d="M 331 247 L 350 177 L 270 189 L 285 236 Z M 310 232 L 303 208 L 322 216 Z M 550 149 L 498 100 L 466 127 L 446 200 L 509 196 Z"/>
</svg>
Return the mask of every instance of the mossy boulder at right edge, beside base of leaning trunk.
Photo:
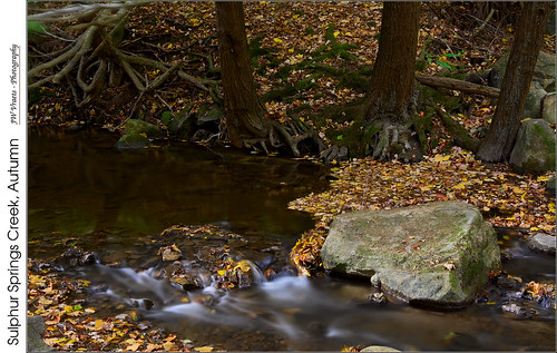
<svg viewBox="0 0 557 353">
<path fill-rule="evenodd" d="M 520 174 L 555 170 L 555 133 L 546 120 L 531 119 L 520 125 L 509 164 Z"/>
</svg>

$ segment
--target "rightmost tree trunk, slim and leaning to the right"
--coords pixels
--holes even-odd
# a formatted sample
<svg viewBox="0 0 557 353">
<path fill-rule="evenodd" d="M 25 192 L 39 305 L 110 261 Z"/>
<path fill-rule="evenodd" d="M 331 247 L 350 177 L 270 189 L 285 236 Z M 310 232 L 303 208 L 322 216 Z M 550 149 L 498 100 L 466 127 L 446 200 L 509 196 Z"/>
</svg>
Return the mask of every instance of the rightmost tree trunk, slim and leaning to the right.
<svg viewBox="0 0 557 353">
<path fill-rule="evenodd" d="M 476 155 L 483 161 L 509 159 L 522 119 L 549 11 L 550 2 L 524 3 L 494 119 Z"/>
</svg>

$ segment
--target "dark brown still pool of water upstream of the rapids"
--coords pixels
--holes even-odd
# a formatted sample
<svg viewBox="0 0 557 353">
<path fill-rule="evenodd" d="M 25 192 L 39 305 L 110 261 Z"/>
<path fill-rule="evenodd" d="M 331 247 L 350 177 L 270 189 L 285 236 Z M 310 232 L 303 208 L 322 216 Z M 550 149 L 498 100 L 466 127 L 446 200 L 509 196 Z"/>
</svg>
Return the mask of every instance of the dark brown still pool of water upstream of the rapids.
<svg viewBox="0 0 557 353">
<path fill-rule="evenodd" d="M 118 151 L 116 140 L 30 133 L 31 242 L 81 236 L 121 247 L 170 225 L 208 223 L 294 241 L 313 220 L 286 204 L 326 186 L 326 169 L 309 161 L 192 145 Z"/>
</svg>

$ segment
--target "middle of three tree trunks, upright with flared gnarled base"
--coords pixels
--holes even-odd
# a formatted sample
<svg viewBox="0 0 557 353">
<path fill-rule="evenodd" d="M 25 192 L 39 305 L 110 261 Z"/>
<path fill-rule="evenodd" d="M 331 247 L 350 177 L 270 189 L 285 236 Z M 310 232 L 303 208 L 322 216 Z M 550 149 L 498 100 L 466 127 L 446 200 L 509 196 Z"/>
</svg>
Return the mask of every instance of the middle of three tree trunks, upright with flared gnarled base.
<svg viewBox="0 0 557 353">
<path fill-rule="evenodd" d="M 364 125 L 379 134 L 371 141 L 379 159 L 419 159 L 410 121 L 420 28 L 419 2 L 384 2 L 379 52 L 364 104 Z M 364 144 L 365 141 L 364 133 Z M 419 148 L 418 148 L 419 150 Z"/>
</svg>

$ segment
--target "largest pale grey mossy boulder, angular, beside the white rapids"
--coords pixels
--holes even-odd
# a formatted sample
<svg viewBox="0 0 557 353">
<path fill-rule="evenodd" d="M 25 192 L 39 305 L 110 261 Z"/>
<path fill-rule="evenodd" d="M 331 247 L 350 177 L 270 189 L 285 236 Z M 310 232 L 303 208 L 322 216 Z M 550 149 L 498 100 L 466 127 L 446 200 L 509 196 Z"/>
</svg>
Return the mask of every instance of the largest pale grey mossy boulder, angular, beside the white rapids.
<svg viewBox="0 0 557 353">
<path fill-rule="evenodd" d="M 371 277 L 410 303 L 469 303 L 500 266 L 497 236 L 463 202 L 339 215 L 321 251 L 333 273 Z"/>
</svg>

